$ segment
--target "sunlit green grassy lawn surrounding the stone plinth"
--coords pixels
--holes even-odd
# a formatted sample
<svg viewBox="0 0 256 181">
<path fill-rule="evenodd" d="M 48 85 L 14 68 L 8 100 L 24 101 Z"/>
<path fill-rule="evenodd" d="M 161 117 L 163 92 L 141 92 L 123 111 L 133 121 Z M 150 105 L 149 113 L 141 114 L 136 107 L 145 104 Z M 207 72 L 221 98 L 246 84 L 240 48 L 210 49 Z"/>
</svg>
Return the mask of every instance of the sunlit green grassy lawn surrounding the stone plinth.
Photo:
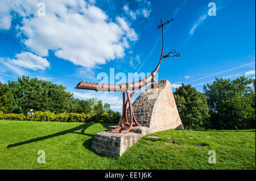
<svg viewBox="0 0 256 181">
<path fill-rule="evenodd" d="M 255 169 L 255 129 L 152 133 L 159 138 L 144 136 L 117 158 L 91 149 L 109 125 L 0 120 L 0 169 Z M 46 151 L 45 164 L 38 150 Z M 216 164 L 208 163 L 209 150 Z"/>
</svg>

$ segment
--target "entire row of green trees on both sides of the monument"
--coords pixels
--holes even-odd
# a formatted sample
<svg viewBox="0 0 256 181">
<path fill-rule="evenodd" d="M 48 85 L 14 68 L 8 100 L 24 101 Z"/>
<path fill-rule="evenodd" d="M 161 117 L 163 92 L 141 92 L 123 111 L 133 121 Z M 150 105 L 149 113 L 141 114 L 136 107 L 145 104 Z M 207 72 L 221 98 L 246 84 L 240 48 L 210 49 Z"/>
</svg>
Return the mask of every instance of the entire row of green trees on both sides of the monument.
<svg viewBox="0 0 256 181">
<path fill-rule="evenodd" d="M 255 92 L 253 79 L 244 76 L 234 80 L 216 78 L 198 92 L 182 84 L 174 98 L 185 129 L 250 129 L 255 128 Z M 23 76 L 18 81 L 0 82 L 0 111 L 27 114 L 30 109 L 59 113 L 84 113 L 115 117 L 110 104 L 98 99 L 79 100 L 62 85 Z M 105 116 L 106 117 L 106 116 Z M 99 120 L 102 118 L 99 118 Z"/>
</svg>

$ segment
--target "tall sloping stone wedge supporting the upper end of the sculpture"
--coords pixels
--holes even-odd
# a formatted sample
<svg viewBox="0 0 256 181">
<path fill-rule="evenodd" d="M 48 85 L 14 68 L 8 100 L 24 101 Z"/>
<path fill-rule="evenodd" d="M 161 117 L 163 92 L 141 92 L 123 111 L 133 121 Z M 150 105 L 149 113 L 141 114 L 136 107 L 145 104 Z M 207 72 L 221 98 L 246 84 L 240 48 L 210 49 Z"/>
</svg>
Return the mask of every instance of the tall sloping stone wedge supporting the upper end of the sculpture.
<svg viewBox="0 0 256 181">
<path fill-rule="evenodd" d="M 147 89 L 142 92 L 133 102 L 133 109 L 138 123 L 150 128 L 151 132 L 183 129 L 172 94 L 171 83 L 167 80 L 160 81 L 159 88 Z M 130 120 L 129 109 L 127 115 Z"/>
</svg>

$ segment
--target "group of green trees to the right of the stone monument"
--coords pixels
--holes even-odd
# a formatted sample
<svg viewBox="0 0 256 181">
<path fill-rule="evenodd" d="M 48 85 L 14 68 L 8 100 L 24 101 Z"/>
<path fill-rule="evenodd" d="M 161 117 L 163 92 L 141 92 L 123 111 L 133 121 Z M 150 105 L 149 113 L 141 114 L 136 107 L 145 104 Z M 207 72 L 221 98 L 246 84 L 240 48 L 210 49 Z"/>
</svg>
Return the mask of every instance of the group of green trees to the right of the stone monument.
<svg viewBox="0 0 256 181">
<path fill-rule="evenodd" d="M 216 78 L 203 93 L 182 84 L 174 92 L 181 121 L 186 129 L 255 128 L 253 79 L 244 76 L 231 81 Z"/>
</svg>

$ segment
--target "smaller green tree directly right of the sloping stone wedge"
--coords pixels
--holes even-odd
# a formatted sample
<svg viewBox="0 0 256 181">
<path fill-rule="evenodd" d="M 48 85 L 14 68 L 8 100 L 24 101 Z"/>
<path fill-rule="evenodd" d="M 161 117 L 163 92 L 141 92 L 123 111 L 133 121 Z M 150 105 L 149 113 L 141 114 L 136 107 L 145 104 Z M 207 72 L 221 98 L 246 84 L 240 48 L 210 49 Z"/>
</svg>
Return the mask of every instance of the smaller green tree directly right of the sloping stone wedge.
<svg viewBox="0 0 256 181">
<path fill-rule="evenodd" d="M 209 117 L 205 95 L 191 85 L 182 84 L 175 90 L 174 98 L 184 128 L 203 128 Z"/>
</svg>

